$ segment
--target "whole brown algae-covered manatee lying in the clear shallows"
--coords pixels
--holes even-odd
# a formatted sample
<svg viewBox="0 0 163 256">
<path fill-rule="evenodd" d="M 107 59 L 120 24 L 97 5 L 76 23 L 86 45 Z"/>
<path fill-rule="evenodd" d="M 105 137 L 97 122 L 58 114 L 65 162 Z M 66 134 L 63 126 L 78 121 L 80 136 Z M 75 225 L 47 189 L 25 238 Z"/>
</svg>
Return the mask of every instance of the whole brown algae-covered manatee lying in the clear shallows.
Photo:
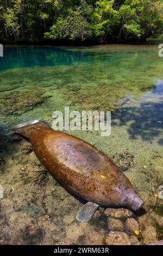
<svg viewBox="0 0 163 256">
<path fill-rule="evenodd" d="M 143 205 L 122 170 L 93 145 L 54 131 L 43 120 L 13 130 L 30 141 L 37 158 L 62 187 L 87 202 L 78 212 L 78 221 L 91 220 L 99 206 L 128 206 L 136 211 Z"/>
</svg>

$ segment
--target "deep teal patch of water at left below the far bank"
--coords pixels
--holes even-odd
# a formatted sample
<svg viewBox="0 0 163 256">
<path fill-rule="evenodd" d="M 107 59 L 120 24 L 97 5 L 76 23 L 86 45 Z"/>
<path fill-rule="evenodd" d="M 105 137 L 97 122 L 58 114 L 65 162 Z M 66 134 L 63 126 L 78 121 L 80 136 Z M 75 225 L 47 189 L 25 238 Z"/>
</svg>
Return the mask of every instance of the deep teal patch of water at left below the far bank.
<svg viewBox="0 0 163 256">
<path fill-rule="evenodd" d="M 70 52 L 52 47 L 6 47 L 4 58 L 0 59 L 0 69 L 30 66 L 70 65 L 83 59 L 82 53 Z"/>
</svg>

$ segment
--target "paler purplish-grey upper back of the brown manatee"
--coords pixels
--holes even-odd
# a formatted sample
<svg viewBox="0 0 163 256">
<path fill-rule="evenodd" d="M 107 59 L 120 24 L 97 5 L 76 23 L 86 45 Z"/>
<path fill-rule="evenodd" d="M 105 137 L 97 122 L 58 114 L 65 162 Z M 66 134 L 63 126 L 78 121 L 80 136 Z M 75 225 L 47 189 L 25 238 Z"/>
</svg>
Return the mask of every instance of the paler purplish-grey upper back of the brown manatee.
<svg viewBox="0 0 163 256">
<path fill-rule="evenodd" d="M 45 139 L 47 148 L 57 162 L 77 173 L 100 172 L 101 170 L 117 169 L 115 164 L 100 150 L 77 137 L 66 133 L 53 132 Z"/>
</svg>

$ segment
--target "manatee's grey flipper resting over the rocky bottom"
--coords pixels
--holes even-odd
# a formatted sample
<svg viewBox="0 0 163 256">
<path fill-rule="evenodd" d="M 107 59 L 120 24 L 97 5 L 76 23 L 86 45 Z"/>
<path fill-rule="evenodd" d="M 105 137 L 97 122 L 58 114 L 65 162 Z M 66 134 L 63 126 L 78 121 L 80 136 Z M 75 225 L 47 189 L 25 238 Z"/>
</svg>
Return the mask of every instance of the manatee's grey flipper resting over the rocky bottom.
<svg viewBox="0 0 163 256">
<path fill-rule="evenodd" d="M 80 208 L 77 214 L 77 220 L 79 222 L 90 221 L 98 207 L 99 207 L 98 204 L 87 202 L 82 206 L 82 208 Z"/>
</svg>

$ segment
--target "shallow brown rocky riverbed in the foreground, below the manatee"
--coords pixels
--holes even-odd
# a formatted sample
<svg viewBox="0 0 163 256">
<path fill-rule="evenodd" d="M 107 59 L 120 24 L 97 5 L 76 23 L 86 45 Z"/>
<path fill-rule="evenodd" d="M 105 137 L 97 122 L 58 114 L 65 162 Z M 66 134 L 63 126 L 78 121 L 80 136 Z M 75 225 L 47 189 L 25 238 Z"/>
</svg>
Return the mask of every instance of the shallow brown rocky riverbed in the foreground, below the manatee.
<svg viewBox="0 0 163 256">
<path fill-rule="evenodd" d="M 76 214 L 82 205 L 37 160 L 30 143 L 1 133 L 0 244 L 4 245 L 147 245 L 162 239 L 161 199 L 154 195 L 142 210 L 99 208 L 88 223 Z M 114 157 L 122 169 L 133 156 Z"/>
</svg>

